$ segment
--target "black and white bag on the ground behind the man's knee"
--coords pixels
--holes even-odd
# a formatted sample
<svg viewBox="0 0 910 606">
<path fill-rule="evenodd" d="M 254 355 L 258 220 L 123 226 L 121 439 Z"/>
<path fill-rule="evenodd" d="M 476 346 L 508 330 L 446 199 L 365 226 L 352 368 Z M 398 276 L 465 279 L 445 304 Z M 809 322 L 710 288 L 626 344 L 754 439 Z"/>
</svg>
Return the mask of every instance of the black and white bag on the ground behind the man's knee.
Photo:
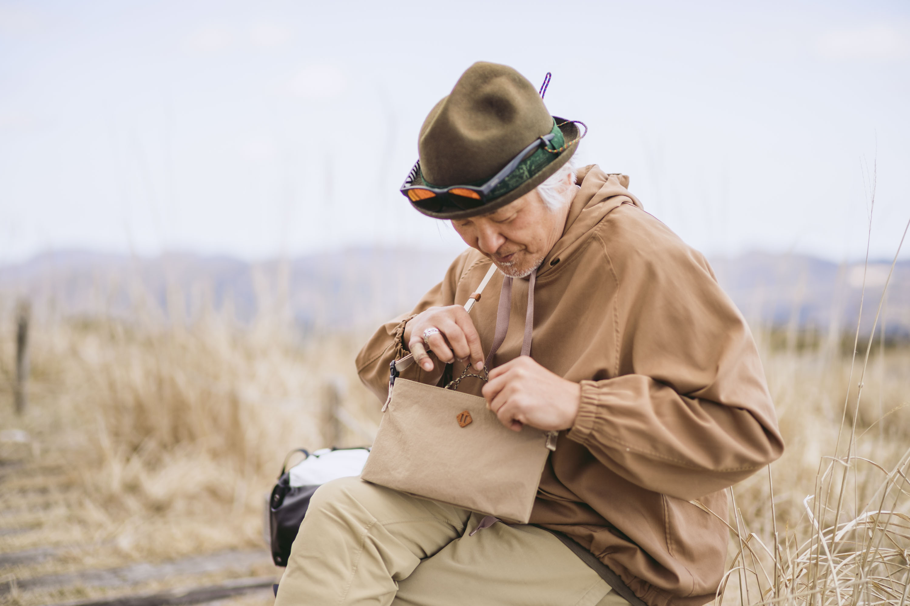
<svg viewBox="0 0 910 606">
<path fill-rule="evenodd" d="M 295 452 L 302 452 L 304 460 L 285 471 Z M 368 456 L 369 448 L 323 448 L 312 454 L 299 448 L 288 452 L 268 499 L 268 528 L 276 566 L 288 565 L 290 546 L 297 538 L 313 492 L 331 480 L 360 475 Z"/>
</svg>

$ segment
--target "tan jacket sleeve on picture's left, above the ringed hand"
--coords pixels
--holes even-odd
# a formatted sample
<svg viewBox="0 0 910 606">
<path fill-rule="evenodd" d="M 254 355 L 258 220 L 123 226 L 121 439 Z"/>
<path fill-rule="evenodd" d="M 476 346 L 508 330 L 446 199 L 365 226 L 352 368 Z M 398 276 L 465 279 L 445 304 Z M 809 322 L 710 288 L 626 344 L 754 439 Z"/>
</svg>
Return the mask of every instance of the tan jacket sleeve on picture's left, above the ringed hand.
<svg viewBox="0 0 910 606">
<path fill-rule="evenodd" d="M 389 364 L 410 353 L 402 341 L 405 324 L 430 307 L 455 304 L 455 291 L 465 271 L 469 256 L 470 250 L 461 253 L 449 266 L 442 282 L 424 294 L 410 313 L 404 313 L 394 320 L 382 324 L 358 353 L 356 363 L 360 381 L 379 397 L 380 402 L 385 402 L 389 393 Z M 417 364 L 411 364 L 410 368 L 401 373 L 401 376 L 411 381 L 433 384 L 439 382 L 444 366 L 434 356 L 433 370 L 430 373 L 424 372 Z"/>
</svg>

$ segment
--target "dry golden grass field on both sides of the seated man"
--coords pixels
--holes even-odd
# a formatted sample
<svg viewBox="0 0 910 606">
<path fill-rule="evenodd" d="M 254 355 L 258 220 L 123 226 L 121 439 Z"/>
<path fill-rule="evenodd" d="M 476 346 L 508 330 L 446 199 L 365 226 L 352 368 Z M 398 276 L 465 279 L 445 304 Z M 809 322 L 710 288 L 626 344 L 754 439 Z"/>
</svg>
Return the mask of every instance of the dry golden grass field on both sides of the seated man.
<svg viewBox="0 0 910 606">
<path fill-rule="evenodd" d="M 217 313 L 188 327 L 36 323 L 29 407 L 16 416 L 12 323 L 0 326 L 0 555 L 57 549 L 0 561 L 3 603 L 126 591 L 20 587 L 49 574 L 262 550 L 264 494 L 286 452 L 366 443 L 379 421 L 353 369 L 365 335 L 301 340 Z M 787 451 L 733 489 L 723 602 L 904 604 L 910 348 L 876 341 L 865 363 L 864 341 L 854 360 L 842 343 L 756 335 Z M 275 574 L 265 562 L 243 574 Z"/>
</svg>

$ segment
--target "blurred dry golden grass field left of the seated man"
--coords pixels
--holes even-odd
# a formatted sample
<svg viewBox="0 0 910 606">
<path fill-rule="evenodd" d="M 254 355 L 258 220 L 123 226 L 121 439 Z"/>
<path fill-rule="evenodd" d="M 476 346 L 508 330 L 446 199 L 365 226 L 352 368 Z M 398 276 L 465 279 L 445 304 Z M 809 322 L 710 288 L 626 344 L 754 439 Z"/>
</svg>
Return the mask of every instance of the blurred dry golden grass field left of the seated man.
<svg viewBox="0 0 910 606">
<path fill-rule="evenodd" d="M 358 339 L 296 343 L 286 334 L 216 317 L 190 330 L 37 325 L 22 417 L 13 412 L 13 333 L 0 334 L 0 554 L 61 550 L 6 568 L 0 560 L 0 583 L 263 550 L 263 503 L 288 450 L 369 443 L 379 418 L 352 368 Z M 328 422 L 337 401 L 343 422 Z M 245 575 L 278 572 L 260 560 Z M 0 586 L 0 602 L 106 593 Z"/>
</svg>

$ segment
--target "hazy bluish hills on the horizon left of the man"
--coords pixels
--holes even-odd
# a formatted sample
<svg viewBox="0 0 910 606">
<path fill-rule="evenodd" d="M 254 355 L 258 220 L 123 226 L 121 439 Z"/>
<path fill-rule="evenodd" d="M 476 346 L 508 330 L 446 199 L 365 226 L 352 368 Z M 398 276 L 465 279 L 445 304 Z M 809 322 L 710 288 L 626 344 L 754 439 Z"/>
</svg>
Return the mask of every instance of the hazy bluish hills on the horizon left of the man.
<svg viewBox="0 0 910 606">
<path fill-rule="evenodd" d="M 194 253 L 140 258 L 63 251 L 0 267 L 0 296 L 24 295 L 35 313 L 66 317 L 135 318 L 142 310 L 182 322 L 218 311 L 240 324 L 269 317 L 303 333 L 330 333 L 410 310 L 451 260 L 439 251 L 386 248 L 261 263 Z"/>
</svg>

